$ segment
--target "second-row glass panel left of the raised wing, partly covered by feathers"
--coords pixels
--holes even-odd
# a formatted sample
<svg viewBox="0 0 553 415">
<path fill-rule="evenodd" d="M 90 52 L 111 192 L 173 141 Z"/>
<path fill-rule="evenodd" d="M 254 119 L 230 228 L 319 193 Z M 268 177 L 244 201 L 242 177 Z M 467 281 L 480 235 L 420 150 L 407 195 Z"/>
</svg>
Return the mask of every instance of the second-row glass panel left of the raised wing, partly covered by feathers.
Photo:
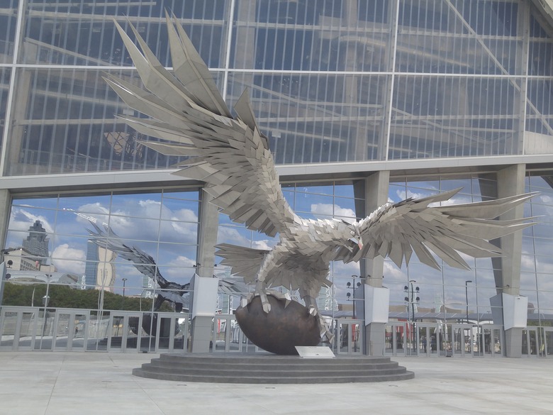
<svg viewBox="0 0 553 415">
<path fill-rule="evenodd" d="M 138 143 L 148 138 L 115 117 L 138 114 L 118 99 L 104 72 L 21 70 L 8 175 L 143 170 L 177 162 Z M 135 71 L 111 74 L 140 85 Z"/>
</svg>

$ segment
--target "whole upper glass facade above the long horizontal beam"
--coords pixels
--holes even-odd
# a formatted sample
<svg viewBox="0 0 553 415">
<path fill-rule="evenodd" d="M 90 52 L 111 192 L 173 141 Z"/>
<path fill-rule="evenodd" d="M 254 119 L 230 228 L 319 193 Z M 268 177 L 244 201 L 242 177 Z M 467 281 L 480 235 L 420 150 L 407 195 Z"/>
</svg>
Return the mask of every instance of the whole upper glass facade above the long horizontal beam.
<svg viewBox="0 0 553 415">
<path fill-rule="evenodd" d="M 113 18 L 171 67 L 166 9 L 229 104 L 250 88 L 279 163 L 553 153 L 551 28 L 527 2 L 6 0 L 4 175 L 172 165 L 102 79 L 135 78 Z"/>
</svg>

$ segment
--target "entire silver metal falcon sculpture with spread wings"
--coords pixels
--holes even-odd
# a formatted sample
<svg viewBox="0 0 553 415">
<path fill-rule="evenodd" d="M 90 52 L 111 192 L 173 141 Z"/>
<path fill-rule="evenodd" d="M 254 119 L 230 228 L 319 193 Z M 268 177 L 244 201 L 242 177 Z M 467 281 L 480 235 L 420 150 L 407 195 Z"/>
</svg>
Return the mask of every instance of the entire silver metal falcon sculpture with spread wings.
<svg viewBox="0 0 553 415">
<path fill-rule="evenodd" d="M 220 244 L 217 255 L 235 275 L 255 284 L 265 313 L 270 312 L 267 289 L 298 290 L 310 313 L 318 315 L 321 337 L 331 333 L 318 314 L 315 299 L 330 286 L 330 261 L 359 261 L 377 255 L 398 266 L 413 251 L 431 267 L 467 269 L 459 253 L 472 257 L 501 255 L 488 242 L 532 225 L 524 219 L 494 220 L 533 196 L 523 194 L 479 203 L 430 207 L 447 201 L 459 189 L 424 199 L 385 204 L 367 218 L 347 223 L 340 219 L 306 219 L 287 203 L 267 136 L 259 131 L 246 89 L 231 114 L 208 67 L 184 29 L 166 13 L 173 70 L 169 72 L 130 25 L 138 46 L 116 23 L 144 87 L 106 74 L 106 82 L 131 108 L 149 118 L 119 116 L 139 133 L 162 141 L 143 142 L 165 155 L 189 156 L 175 175 L 205 182 L 205 191 L 230 219 L 267 236 L 279 235 L 272 250 Z M 251 297 L 250 297 L 251 299 Z"/>
</svg>

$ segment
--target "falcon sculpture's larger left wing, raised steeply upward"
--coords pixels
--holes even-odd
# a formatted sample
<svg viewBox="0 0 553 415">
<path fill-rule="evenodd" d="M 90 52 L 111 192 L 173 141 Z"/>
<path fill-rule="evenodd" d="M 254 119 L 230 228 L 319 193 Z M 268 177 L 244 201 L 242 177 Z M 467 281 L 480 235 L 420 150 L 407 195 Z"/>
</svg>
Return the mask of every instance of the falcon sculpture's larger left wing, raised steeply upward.
<svg viewBox="0 0 553 415">
<path fill-rule="evenodd" d="M 194 156 L 177 175 L 206 182 L 213 204 L 247 228 L 275 236 L 294 223 L 284 199 L 267 137 L 259 132 L 247 91 L 235 104 L 233 118 L 208 67 L 177 20 L 167 16 L 173 74 L 162 67 L 131 26 L 142 52 L 121 26 L 119 33 L 150 92 L 106 75 L 106 81 L 128 106 L 150 119 L 121 116 L 145 135 L 172 143 L 143 142 L 166 155 Z"/>
</svg>

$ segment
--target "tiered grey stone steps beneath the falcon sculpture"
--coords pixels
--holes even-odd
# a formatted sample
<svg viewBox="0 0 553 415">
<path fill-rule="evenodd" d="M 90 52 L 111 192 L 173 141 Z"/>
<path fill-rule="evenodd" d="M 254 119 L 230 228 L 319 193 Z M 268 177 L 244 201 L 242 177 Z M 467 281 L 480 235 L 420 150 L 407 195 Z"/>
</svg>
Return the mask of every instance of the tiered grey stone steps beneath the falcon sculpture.
<svg viewBox="0 0 553 415">
<path fill-rule="evenodd" d="M 413 372 L 390 358 L 337 356 L 333 359 L 246 354 L 162 354 L 133 375 L 179 382 L 345 383 L 413 379 Z"/>
</svg>

